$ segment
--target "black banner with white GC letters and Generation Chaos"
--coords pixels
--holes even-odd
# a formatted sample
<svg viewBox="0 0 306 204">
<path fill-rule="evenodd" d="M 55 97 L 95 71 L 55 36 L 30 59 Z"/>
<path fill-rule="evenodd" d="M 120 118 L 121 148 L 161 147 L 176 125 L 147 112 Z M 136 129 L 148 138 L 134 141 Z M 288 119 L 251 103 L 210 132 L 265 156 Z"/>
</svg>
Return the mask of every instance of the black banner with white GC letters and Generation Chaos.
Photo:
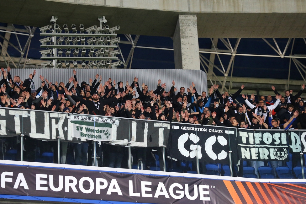
<svg viewBox="0 0 306 204">
<path fill-rule="evenodd" d="M 201 126 L 172 123 L 168 149 L 171 157 L 201 162 L 229 163 L 229 147 L 236 147 L 236 129 L 217 126 Z"/>
</svg>

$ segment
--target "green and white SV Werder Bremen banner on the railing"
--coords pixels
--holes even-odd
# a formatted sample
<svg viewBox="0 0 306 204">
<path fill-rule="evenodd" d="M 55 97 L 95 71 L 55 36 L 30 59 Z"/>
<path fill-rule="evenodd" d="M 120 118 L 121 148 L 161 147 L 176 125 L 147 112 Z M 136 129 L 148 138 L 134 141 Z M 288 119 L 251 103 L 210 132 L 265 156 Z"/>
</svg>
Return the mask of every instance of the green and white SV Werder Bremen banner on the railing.
<svg viewBox="0 0 306 204">
<path fill-rule="evenodd" d="M 95 141 L 116 140 L 119 120 L 89 115 L 70 115 L 72 137 Z"/>
</svg>

